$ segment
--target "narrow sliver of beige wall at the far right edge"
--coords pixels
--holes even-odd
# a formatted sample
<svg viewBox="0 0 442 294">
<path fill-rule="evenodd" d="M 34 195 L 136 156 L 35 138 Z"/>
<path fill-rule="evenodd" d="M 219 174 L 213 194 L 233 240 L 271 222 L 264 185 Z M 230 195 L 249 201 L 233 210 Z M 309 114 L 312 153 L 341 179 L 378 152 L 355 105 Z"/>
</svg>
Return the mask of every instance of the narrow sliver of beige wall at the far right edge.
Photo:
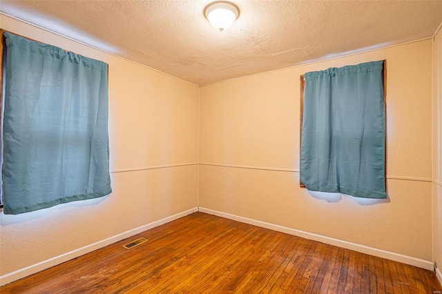
<svg viewBox="0 0 442 294">
<path fill-rule="evenodd" d="M 434 261 L 442 268 L 442 30 L 433 43 L 433 233 Z M 442 275 L 439 272 L 442 282 Z"/>
</svg>

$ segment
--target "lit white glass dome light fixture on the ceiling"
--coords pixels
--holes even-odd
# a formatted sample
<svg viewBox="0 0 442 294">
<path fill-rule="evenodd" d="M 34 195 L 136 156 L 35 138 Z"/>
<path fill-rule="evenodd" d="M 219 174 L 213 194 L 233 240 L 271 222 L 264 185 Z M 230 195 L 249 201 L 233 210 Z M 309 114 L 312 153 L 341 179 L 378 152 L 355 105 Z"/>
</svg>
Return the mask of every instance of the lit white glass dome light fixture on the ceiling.
<svg viewBox="0 0 442 294">
<path fill-rule="evenodd" d="M 206 19 L 211 23 L 213 28 L 220 30 L 220 32 L 229 28 L 233 21 L 238 19 L 239 14 L 240 10 L 238 6 L 227 1 L 216 1 L 204 8 Z"/>
</svg>

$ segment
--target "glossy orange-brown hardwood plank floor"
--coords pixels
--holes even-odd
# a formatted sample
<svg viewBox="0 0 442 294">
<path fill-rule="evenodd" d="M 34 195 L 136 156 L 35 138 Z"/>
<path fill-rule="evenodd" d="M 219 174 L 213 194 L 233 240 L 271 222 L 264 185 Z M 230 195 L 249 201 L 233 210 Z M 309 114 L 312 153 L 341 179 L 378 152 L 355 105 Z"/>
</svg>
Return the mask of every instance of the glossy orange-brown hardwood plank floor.
<svg viewBox="0 0 442 294">
<path fill-rule="evenodd" d="M 140 237 L 148 242 L 122 247 Z M 0 288 L 1 294 L 440 291 L 434 273 L 422 268 L 204 213 Z"/>
</svg>

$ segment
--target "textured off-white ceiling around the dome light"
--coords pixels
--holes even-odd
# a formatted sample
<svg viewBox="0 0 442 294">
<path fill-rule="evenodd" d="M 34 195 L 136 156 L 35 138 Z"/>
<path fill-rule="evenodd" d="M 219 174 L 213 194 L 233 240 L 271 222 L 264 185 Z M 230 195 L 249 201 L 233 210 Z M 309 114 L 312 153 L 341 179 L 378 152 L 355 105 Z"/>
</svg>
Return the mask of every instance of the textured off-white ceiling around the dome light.
<svg viewBox="0 0 442 294">
<path fill-rule="evenodd" d="M 121 57 L 204 85 L 432 37 L 442 1 L 231 0 L 219 32 L 209 0 L 0 1 L 0 10 Z"/>
</svg>

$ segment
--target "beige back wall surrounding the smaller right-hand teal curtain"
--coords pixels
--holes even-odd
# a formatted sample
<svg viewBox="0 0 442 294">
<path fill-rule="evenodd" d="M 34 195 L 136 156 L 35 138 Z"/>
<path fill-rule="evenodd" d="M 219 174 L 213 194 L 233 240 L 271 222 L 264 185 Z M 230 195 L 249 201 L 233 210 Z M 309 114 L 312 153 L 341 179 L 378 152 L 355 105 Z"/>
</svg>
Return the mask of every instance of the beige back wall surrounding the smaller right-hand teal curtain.
<svg viewBox="0 0 442 294">
<path fill-rule="evenodd" d="M 387 62 L 389 199 L 327 202 L 299 187 L 299 77 Z M 200 90 L 200 207 L 432 261 L 432 41 Z"/>
</svg>

